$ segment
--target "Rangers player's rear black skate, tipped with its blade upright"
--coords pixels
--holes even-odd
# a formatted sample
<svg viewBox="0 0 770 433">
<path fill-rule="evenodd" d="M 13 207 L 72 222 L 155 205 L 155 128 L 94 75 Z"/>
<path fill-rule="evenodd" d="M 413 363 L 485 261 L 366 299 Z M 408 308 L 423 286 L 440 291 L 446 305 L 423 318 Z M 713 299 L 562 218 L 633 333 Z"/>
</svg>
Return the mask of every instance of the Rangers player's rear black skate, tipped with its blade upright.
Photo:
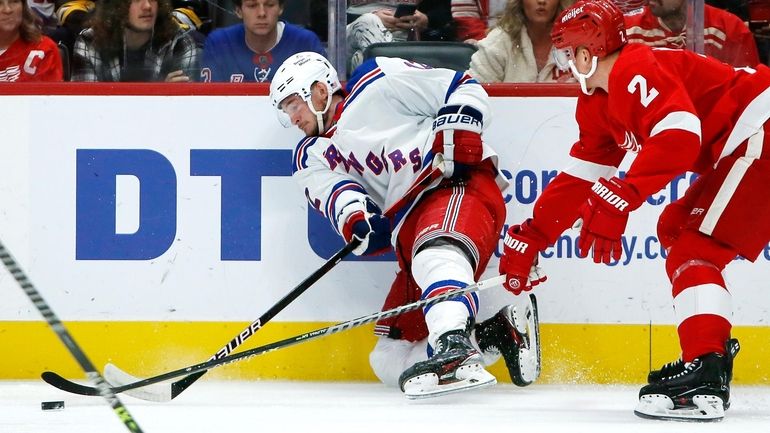
<svg viewBox="0 0 770 433">
<path fill-rule="evenodd" d="M 537 299 L 503 307 L 475 327 L 476 341 L 485 354 L 499 353 L 505 360 L 511 381 L 527 386 L 540 376 L 540 323 Z"/>
</svg>

